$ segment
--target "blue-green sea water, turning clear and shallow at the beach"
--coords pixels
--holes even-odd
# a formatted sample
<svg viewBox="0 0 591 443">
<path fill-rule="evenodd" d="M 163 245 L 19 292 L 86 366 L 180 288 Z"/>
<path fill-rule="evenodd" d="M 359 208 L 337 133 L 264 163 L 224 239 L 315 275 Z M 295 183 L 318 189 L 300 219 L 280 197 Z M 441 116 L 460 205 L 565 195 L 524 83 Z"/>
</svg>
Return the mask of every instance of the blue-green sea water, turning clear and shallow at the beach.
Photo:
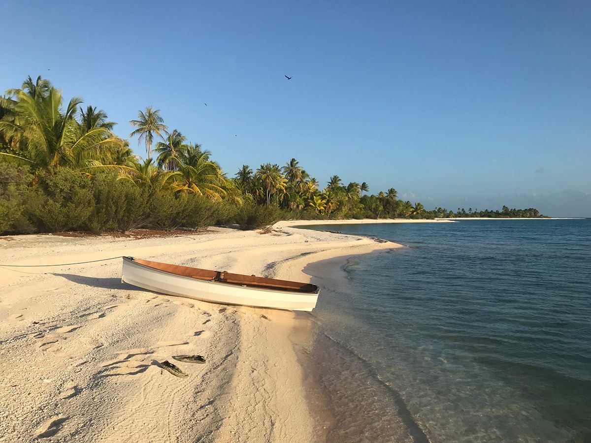
<svg viewBox="0 0 591 443">
<path fill-rule="evenodd" d="M 306 269 L 329 441 L 591 442 L 590 219 L 313 229 L 406 246 Z"/>
</svg>

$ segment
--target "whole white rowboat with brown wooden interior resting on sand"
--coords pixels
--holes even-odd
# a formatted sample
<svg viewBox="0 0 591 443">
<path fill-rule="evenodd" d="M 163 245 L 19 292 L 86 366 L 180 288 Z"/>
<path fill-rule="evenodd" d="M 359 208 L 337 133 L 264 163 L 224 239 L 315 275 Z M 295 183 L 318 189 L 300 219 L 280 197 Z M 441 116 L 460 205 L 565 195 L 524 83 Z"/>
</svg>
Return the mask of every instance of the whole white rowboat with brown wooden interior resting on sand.
<svg viewBox="0 0 591 443">
<path fill-rule="evenodd" d="M 230 305 L 311 311 L 320 289 L 310 283 L 209 271 L 133 257 L 123 258 L 121 281 L 178 297 Z"/>
</svg>

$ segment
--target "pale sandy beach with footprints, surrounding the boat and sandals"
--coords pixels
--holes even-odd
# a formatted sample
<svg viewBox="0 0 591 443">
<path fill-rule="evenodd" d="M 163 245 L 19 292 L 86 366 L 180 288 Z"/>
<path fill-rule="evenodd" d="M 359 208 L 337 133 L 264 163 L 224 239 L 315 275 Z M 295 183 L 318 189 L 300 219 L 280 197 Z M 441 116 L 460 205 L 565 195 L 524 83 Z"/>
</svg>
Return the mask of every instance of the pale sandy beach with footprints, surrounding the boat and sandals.
<svg viewBox="0 0 591 443">
<path fill-rule="evenodd" d="M 0 237 L 0 263 L 131 255 L 308 281 L 308 263 L 400 247 L 290 227 L 305 223 L 281 222 L 267 234 L 212 228 L 135 240 Z M 121 283 L 120 259 L 0 266 L 0 286 L 2 442 L 315 439 L 289 338 L 310 327 L 305 313 L 154 294 Z M 200 354 L 206 364 L 171 359 L 176 354 Z M 163 370 L 164 360 L 189 376 Z"/>
</svg>

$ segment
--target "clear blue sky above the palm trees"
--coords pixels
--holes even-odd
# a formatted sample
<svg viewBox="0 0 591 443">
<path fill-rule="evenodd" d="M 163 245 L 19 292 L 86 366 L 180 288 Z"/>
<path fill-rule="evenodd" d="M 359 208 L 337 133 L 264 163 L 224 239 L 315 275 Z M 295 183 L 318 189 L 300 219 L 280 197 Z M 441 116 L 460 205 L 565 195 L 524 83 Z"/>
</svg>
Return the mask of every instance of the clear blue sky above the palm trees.
<svg viewBox="0 0 591 443">
<path fill-rule="evenodd" d="M 589 1 L 4 0 L 0 17 L 0 89 L 41 74 L 124 137 L 154 106 L 229 175 L 294 157 L 427 209 L 591 217 Z"/>
</svg>

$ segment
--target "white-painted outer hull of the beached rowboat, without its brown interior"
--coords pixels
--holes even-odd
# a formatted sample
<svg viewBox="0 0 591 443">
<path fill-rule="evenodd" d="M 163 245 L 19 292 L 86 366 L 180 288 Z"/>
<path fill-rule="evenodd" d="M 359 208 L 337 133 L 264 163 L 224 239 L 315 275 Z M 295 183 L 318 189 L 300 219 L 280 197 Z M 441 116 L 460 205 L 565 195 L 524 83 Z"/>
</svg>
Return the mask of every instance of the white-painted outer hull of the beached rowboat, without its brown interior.
<svg viewBox="0 0 591 443">
<path fill-rule="evenodd" d="M 249 288 L 217 281 L 203 281 L 141 265 L 124 258 L 121 281 L 149 291 L 213 303 L 246 305 L 290 311 L 311 311 L 318 292 L 303 293 Z"/>
</svg>

